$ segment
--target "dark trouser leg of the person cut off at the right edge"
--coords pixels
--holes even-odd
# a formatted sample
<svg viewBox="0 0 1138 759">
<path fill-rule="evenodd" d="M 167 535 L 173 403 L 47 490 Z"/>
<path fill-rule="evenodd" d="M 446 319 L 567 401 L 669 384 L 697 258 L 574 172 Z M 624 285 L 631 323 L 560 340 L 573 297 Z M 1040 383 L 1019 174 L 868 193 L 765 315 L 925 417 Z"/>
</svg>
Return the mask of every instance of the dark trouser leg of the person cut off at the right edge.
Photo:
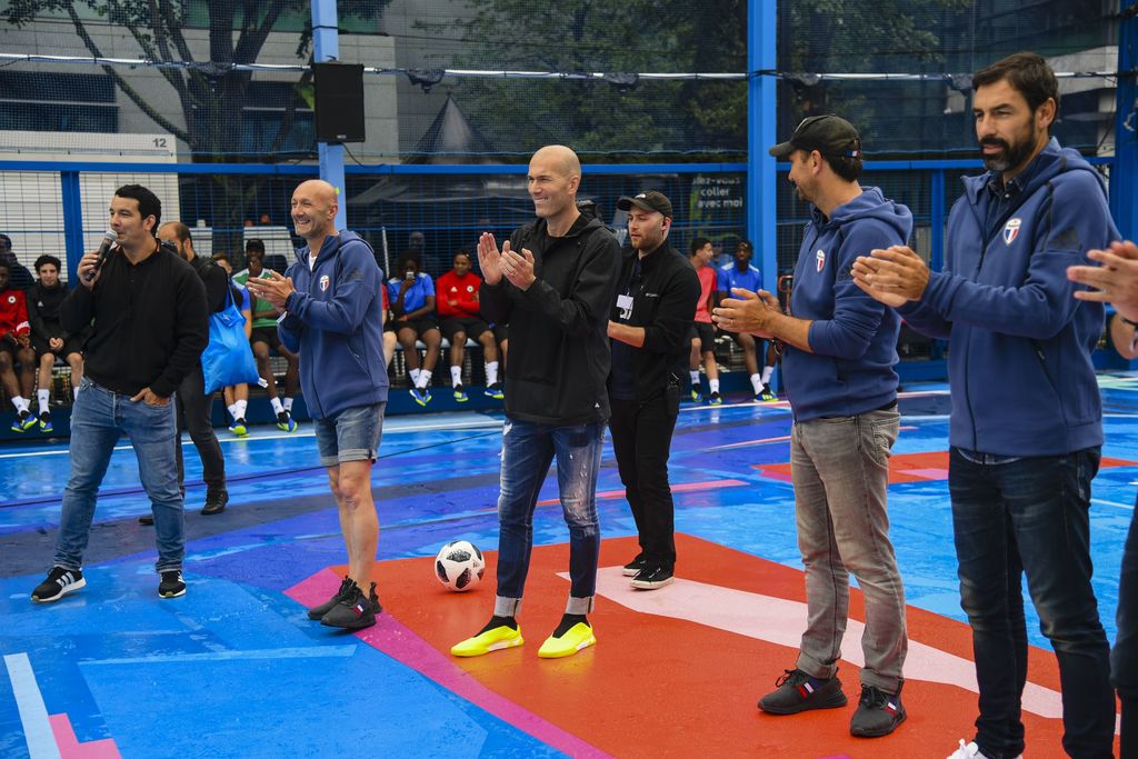
<svg viewBox="0 0 1138 759">
<path fill-rule="evenodd" d="M 1122 701 L 1122 757 L 1138 757 L 1138 503 L 1130 518 L 1119 579 L 1119 636 L 1111 652 L 1111 680 Z"/>
</svg>

